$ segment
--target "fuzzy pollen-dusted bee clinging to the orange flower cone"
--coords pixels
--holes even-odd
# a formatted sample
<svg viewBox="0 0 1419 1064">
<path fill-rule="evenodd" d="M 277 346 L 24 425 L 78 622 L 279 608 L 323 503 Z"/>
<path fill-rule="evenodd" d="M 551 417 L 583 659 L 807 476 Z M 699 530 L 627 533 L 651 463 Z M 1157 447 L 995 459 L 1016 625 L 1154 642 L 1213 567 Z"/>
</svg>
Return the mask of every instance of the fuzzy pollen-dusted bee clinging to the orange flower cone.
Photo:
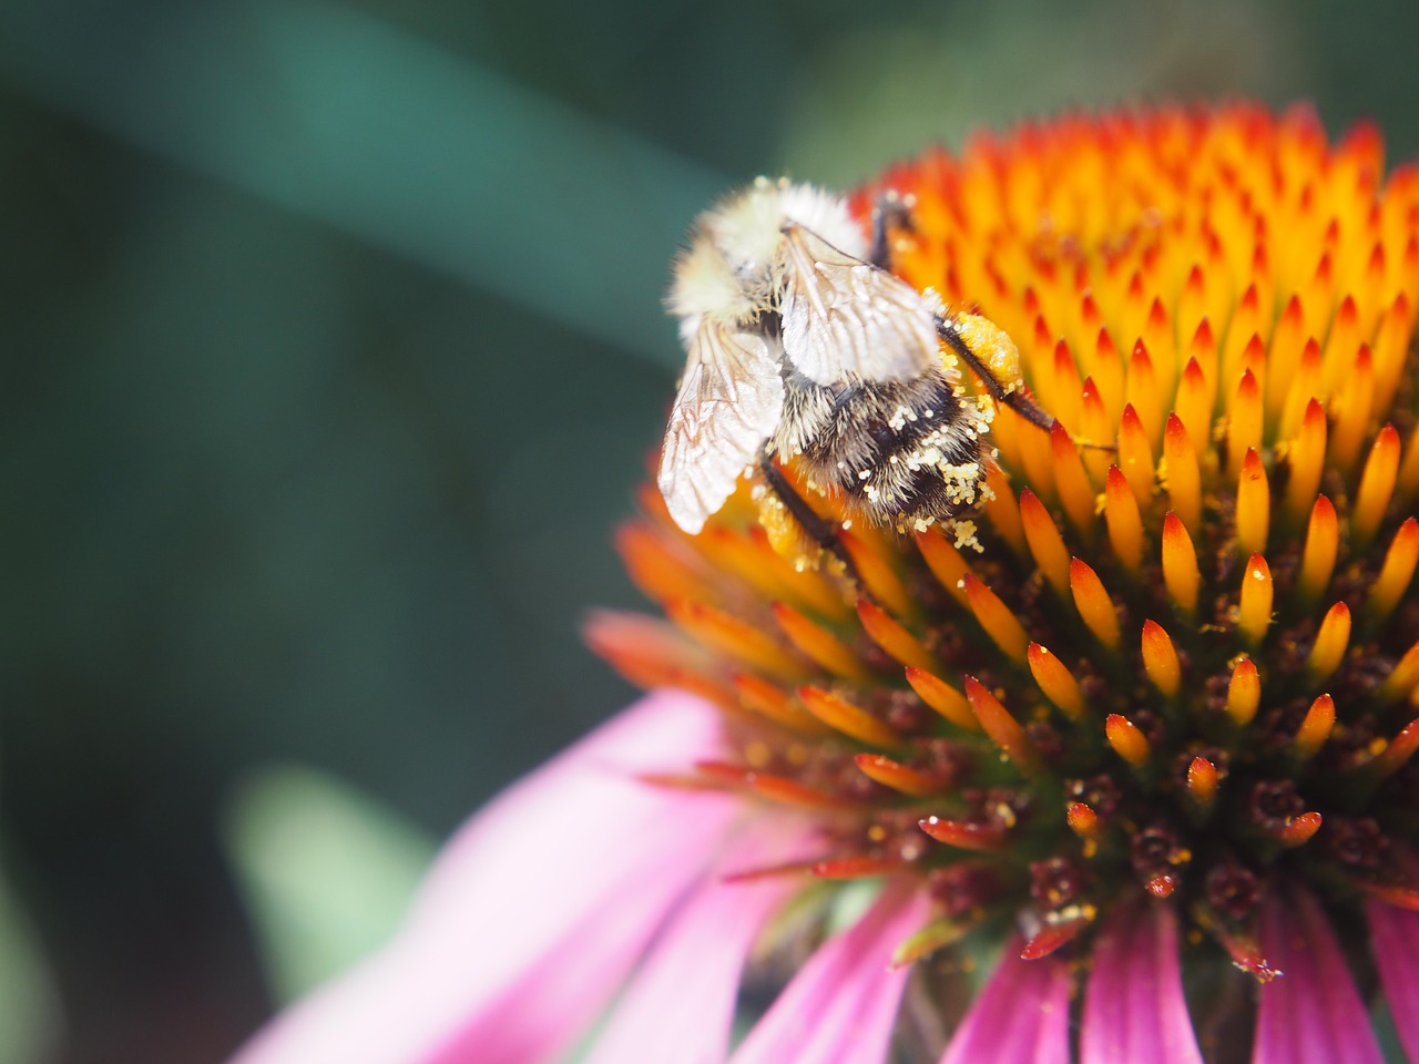
<svg viewBox="0 0 1419 1064">
<path fill-rule="evenodd" d="M 888 204 L 891 206 L 891 204 Z M 900 207 L 900 201 L 895 204 Z M 871 241 L 884 257 L 885 210 Z M 880 262 L 832 193 L 761 177 L 704 213 L 675 261 L 670 312 L 688 353 L 657 484 L 695 533 L 758 464 L 822 546 L 773 458 L 897 531 L 925 531 L 985 498 L 993 407 L 961 387 L 956 358 L 1030 421 L 1053 419 L 1022 389 L 1019 352 L 999 328 L 946 311 Z M 942 342 L 952 358 L 942 355 Z"/>
</svg>

